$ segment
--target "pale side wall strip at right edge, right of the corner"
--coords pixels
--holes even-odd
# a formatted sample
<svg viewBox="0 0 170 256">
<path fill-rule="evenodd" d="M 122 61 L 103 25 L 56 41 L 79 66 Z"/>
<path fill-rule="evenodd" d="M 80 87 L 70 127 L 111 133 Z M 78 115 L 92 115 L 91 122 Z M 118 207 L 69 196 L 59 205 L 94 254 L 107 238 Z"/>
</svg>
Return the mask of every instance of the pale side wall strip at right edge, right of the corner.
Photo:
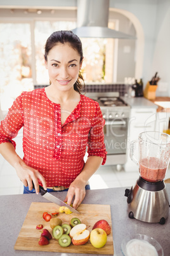
<svg viewBox="0 0 170 256">
<path fill-rule="evenodd" d="M 159 71 L 160 82 L 157 96 L 170 96 L 170 1 L 159 1 L 155 30 L 155 49 L 152 70 Z M 153 73 L 152 72 L 152 73 Z"/>
</svg>

